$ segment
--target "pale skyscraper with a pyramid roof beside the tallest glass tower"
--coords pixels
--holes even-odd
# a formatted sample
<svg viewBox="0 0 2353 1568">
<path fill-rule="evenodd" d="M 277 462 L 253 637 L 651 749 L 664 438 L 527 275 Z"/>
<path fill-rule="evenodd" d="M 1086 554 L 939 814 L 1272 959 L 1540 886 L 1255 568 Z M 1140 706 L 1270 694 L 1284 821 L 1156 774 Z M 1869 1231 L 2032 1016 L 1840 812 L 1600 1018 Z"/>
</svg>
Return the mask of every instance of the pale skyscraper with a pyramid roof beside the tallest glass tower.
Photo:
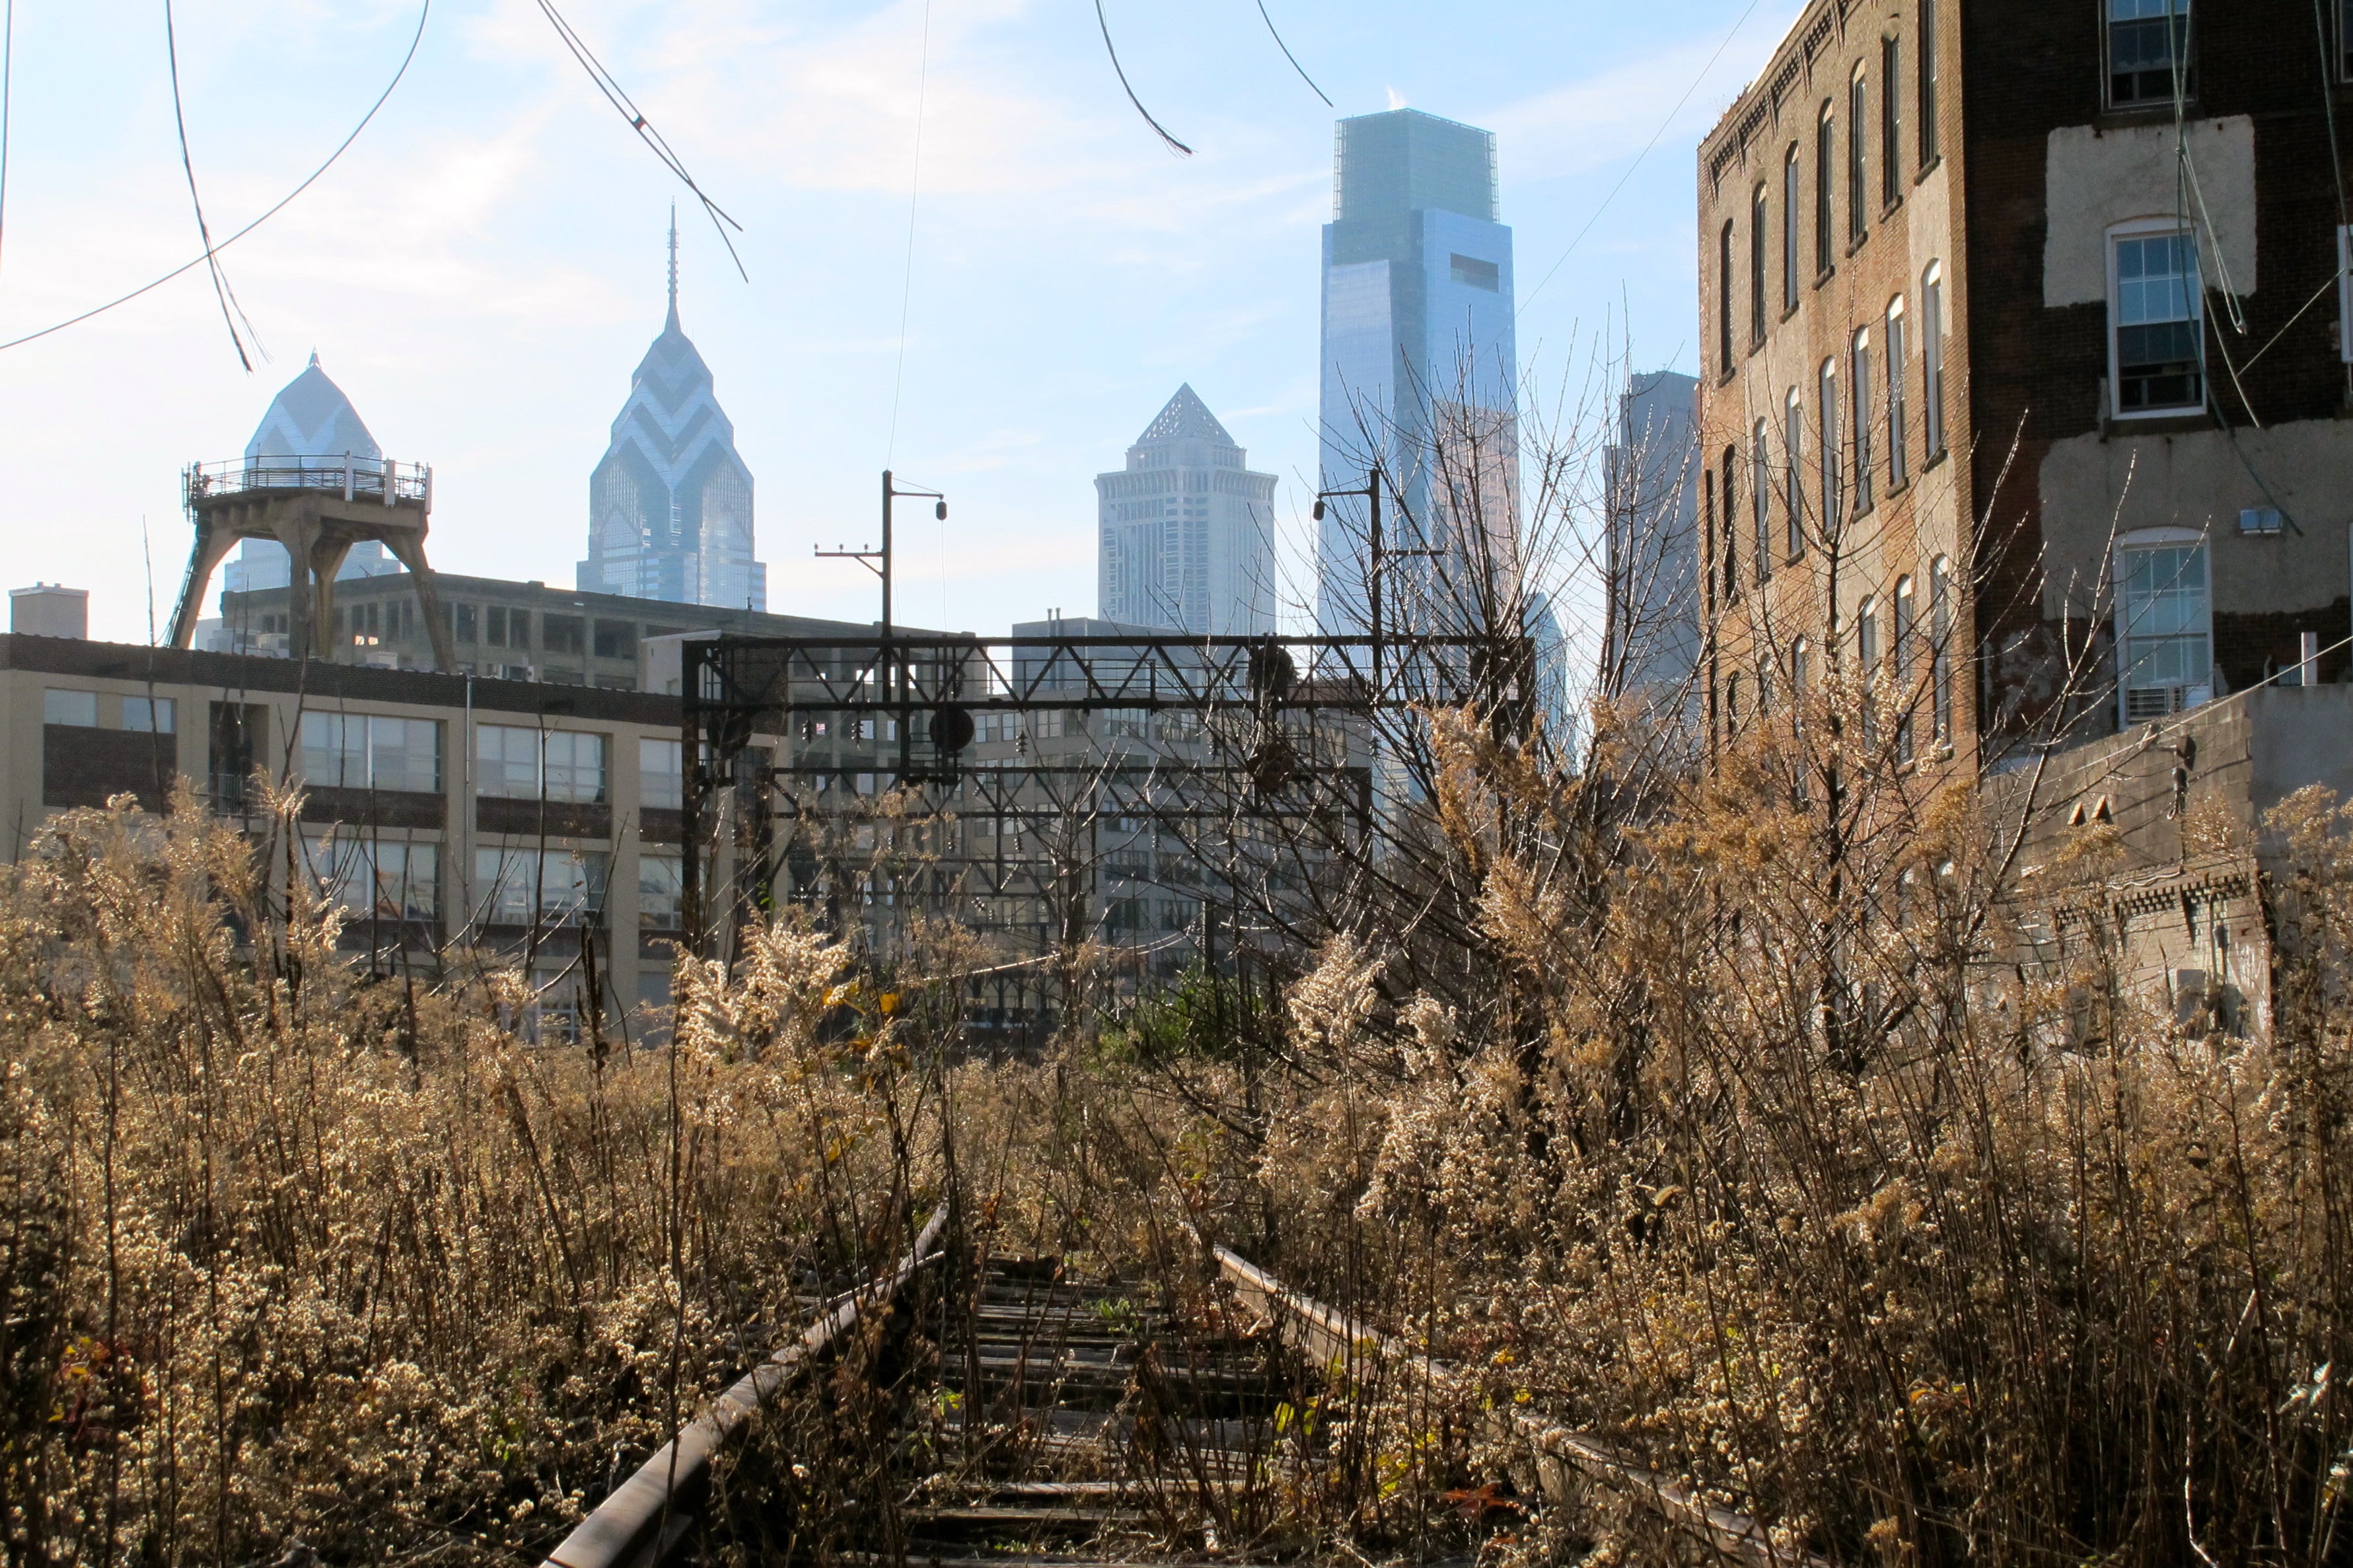
<svg viewBox="0 0 2353 1568">
<path fill-rule="evenodd" d="M 1217 414 L 1179 386 L 1127 469 L 1094 476 L 1096 614 L 1198 636 L 1275 629 L 1275 476 L 1242 466 Z"/>
</svg>

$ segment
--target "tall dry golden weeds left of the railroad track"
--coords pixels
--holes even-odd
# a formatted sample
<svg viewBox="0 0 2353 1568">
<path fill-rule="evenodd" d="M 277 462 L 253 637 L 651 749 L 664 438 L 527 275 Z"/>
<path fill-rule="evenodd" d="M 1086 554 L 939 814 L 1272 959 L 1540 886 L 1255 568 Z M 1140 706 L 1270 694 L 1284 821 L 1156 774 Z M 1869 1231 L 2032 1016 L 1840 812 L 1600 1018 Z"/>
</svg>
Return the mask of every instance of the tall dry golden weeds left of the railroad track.
<svg viewBox="0 0 2353 1568">
<path fill-rule="evenodd" d="M 532 1048 L 511 977 L 346 965 L 273 852 L 125 798 L 0 883 L 7 1561 L 544 1549 L 936 1187 L 805 925 L 682 965 L 666 1050 Z"/>
</svg>

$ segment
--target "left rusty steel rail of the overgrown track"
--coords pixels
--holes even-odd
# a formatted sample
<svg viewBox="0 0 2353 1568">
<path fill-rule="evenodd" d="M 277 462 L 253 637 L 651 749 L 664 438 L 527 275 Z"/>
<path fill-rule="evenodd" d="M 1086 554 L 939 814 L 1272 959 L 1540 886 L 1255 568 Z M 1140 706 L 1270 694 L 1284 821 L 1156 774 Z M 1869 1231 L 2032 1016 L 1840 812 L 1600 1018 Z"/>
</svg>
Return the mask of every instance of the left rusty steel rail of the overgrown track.
<svg viewBox="0 0 2353 1568">
<path fill-rule="evenodd" d="M 866 1307 L 887 1302 L 939 1257 L 939 1234 L 948 1224 L 948 1205 L 932 1210 L 915 1245 L 899 1264 L 826 1304 L 807 1333 L 774 1356 L 744 1373 L 711 1408 L 687 1422 L 678 1436 L 654 1450 L 605 1502 L 579 1521 L 572 1535 L 546 1556 L 541 1568 L 635 1568 L 661 1563 L 694 1523 L 694 1502 L 711 1479 L 711 1460 L 746 1420 L 784 1394 L 816 1356 L 833 1349 L 859 1321 Z"/>
</svg>

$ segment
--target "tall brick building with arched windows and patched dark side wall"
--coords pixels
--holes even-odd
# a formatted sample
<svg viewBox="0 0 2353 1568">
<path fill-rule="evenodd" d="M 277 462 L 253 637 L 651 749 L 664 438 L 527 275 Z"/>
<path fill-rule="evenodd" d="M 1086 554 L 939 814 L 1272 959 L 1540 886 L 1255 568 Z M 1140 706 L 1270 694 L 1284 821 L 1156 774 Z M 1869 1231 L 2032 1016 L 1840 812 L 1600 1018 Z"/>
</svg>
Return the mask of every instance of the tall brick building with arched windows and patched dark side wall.
<svg viewBox="0 0 2353 1568">
<path fill-rule="evenodd" d="M 1713 735 L 1868 676 L 2000 768 L 2346 676 L 2348 9 L 1807 7 L 1699 153 Z"/>
</svg>

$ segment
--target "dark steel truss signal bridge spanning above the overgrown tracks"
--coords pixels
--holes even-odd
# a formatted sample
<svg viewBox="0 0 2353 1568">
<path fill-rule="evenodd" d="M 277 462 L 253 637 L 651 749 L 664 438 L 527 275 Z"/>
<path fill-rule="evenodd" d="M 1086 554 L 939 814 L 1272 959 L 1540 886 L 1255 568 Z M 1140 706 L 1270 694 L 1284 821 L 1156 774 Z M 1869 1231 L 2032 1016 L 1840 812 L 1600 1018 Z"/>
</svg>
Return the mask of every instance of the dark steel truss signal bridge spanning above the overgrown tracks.
<svg viewBox="0 0 2353 1568">
<path fill-rule="evenodd" d="M 1301 753 L 1301 730 L 1315 716 L 1353 716 L 1369 727 L 1381 713 L 1419 706 L 1478 704 L 1508 730 L 1525 732 L 1534 692 L 1534 643 L 1525 636 L 1398 638 L 1191 638 L 1191 636 L 1026 636 L 875 633 L 847 638 L 746 638 L 722 633 L 680 650 L 685 763 L 685 888 L 689 946 L 708 951 L 701 843 L 704 800 L 734 789 L 741 803 L 734 871 L 736 918 L 772 902 L 776 866 L 772 822 L 852 819 L 871 798 L 849 789 L 854 775 L 934 793 L 939 810 L 1031 819 L 1073 812 L 1158 822 L 1252 819 L 1268 824 L 1339 822 L 1369 829 L 1372 768 L 1327 765 Z M 962 760 L 974 716 L 1040 711 L 1191 711 L 1202 716 L 1212 758 L 1158 753 L 1151 763 Z M 751 763 L 755 735 L 791 749 L 807 737 L 805 716 L 896 718 L 887 756 L 871 760 Z M 932 735 L 918 749 L 915 718 Z M 1224 723 L 1221 723 L 1224 720 Z M 1191 742 L 1169 742 L 1191 744 Z M 840 735 L 835 735 L 835 751 Z M 1245 751 L 1247 760 L 1226 760 Z M 1308 753 L 1315 751 L 1311 744 Z M 786 789 L 779 782 L 819 784 Z M 831 796 L 831 798 L 828 798 Z M 1198 855 L 1198 850 L 1195 850 Z M 962 864 L 969 859 L 958 857 Z M 751 885 L 744 885 L 744 876 Z M 991 878 L 1000 888 L 1007 878 Z M 746 897 L 748 895 L 748 897 Z M 708 899 L 720 906 L 718 899 Z"/>
</svg>

